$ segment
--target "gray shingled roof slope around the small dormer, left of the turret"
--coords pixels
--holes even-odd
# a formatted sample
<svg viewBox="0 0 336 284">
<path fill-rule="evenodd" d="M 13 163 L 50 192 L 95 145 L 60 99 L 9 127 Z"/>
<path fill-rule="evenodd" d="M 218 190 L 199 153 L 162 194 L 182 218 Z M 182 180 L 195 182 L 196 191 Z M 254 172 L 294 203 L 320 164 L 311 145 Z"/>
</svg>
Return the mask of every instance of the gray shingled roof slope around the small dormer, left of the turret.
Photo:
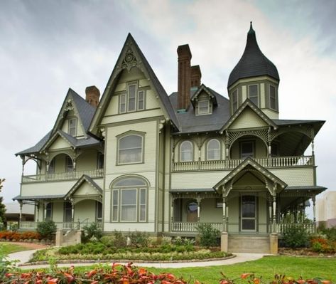
<svg viewBox="0 0 336 284">
<path fill-rule="evenodd" d="M 181 128 L 180 132 L 177 132 L 178 134 L 217 131 L 220 130 L 227 120 L 229 120 L 229 100 L 210 88 L 207 88 L 207 90 L 215 95 L 217 100 L 217 106 L 213 107 L 212 114 L 195 115 L 195 109 L 190 103 L 190 106 L 186 112 L 179 112 L 177 114 Z M 195 92 L 195 90 L 190 92 L 190 98 L 195 94 Z M 169 98 L 173 107 L 177 109 L 178 93 L 172 93 Z"/>
</svg>

